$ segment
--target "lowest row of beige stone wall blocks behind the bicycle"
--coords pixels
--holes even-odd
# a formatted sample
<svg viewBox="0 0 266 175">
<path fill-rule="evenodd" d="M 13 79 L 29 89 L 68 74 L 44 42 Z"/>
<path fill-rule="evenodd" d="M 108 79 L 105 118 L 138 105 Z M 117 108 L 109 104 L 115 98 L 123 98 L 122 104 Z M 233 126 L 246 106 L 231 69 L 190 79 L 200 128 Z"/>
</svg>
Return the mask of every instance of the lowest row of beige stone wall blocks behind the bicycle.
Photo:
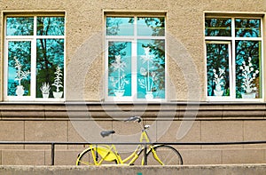
<svg viewBox="0 0 266 175">
<path fill-rule="evenodd" d="M 266 149 L 262 148 L 211 148 L 211 149 L 178 149 L 184 165 L 195 164 L 242 164 L 266 163 Z M 55 151 L 55 165 L 75 165 L 81 149 L 60 149 Z M 130 152 L 129 152 L 130 153 Z M 125 158 L 129 153 L 121 153 Z M 49 149 L 4 149 L 0 151 L 2 165 L 51 165 Z M 140 165 L 142 155 L 135 165 Z M 148 162 L 148 165 L 151 165 Z M 0 173 L 1 174 L 1 173 Z"/>
</svg>

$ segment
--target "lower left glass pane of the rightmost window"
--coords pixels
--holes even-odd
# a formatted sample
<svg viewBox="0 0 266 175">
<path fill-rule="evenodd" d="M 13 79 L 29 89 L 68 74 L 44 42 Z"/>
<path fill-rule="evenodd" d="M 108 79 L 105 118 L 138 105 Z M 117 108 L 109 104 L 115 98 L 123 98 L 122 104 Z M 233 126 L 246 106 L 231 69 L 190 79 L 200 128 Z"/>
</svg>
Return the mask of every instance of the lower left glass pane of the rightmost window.
<svg viewBox="0 0 266 175">
<path fill-rule="evenodd" d="M 230 96 L 229 44 L 207 45 L 207 96 Z"/>
</svg>

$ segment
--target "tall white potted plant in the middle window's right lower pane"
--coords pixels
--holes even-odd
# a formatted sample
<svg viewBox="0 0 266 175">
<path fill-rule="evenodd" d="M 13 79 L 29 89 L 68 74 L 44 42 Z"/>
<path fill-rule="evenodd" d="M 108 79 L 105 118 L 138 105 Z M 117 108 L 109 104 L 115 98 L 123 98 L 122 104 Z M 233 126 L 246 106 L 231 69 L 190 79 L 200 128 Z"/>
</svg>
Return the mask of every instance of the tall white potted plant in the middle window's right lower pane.
<svg viewBox="0 0 266 175">
<path fill-rule="evenodd" d="M 153 99 L 153 91 L 156 91 L 154 84 L 156 73 L 151 70 L 150 66 L 153 65 L 154 55 L 150 55 L 149 47 L 144 48 L 144 50 L 145 55 L 142 55 L 140 58 L 143 60 L 143 64 L 146 63 L 147 67 L 140 68 L 140 75 L 143 76 L 143 78 L 138 78 L 137 81 L 140 87 L 145 89 L 145 99 Z"/>
</svg>

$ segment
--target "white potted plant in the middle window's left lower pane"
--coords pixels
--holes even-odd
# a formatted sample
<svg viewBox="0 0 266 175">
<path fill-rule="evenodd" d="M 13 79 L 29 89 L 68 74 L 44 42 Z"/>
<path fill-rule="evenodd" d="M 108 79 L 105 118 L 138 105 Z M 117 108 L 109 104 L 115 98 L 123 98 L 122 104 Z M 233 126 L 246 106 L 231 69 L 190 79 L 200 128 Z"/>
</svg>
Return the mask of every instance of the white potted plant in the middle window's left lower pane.
<svg viewBox="0 0 266 175">
<path fill-rule="evenodd" d="M 121 60 L 121 55 L 116 55 L 115 60 L 111 63 L 111 68 L 113 68 L 113 71 L 117 71 L 118 76 L 117 78 L 110 76 L 110 81 L 114 88 L 113 92 L 116 97 L 122 97 L 125 92 L 125 84 L 129 84 L 129 80 L 124 73 L 124 68 L 126 67 L 126 63 Z"/>
</svg>

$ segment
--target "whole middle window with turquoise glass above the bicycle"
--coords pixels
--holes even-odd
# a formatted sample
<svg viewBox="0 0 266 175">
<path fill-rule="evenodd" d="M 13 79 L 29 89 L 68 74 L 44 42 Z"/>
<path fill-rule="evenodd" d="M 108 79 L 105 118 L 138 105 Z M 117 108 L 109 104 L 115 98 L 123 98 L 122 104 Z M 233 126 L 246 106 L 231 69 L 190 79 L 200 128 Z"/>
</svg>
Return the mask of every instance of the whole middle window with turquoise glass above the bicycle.
<svg viewBox="0 0 266 175">
<path fill-rule="evenodd" d="M 162 100 L 165 17 L 106 15 L 106 99 Z"/>
</svg>

